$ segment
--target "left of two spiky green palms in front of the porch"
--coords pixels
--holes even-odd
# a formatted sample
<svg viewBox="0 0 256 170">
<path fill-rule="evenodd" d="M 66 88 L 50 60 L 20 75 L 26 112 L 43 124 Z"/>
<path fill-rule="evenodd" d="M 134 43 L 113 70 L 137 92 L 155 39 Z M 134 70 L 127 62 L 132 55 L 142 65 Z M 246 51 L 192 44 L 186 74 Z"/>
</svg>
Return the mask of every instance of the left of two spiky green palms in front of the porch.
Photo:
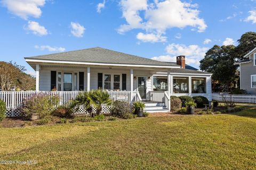
<svg viewBox="0 0 256 170">
<path fill-rule="evenodd" d="M 77 112 L 79 107 L 83 107 L 87 113 L 93 117 L 92 113 L 92 92 L 91 91 L 83 91 L 80 92 L 74 100 L 71 101 L 70 109 L 73 109 L 74 112 Z"/>
</svg>

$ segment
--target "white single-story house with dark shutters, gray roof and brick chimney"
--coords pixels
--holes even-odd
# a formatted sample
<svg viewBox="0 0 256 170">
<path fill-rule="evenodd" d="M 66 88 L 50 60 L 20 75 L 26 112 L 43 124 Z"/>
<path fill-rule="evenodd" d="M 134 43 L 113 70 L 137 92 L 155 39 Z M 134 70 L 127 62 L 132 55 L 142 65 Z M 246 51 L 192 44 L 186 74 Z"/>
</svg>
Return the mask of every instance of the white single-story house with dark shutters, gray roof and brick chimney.
<svg viewBox="0 0 256 170">
<path fill-rule="evenodd" d="M 212 100 L 212 74 L 186 65 L 185 56 L 178 56 L 177 63 L 168 63 L 96 47 L 25 60 L 36 70 L 37 91 L 135 90 L 141 100 L 154 101 L 162 101 L 164 91 L 168 91 L 169 95 Z"/>
</svg>

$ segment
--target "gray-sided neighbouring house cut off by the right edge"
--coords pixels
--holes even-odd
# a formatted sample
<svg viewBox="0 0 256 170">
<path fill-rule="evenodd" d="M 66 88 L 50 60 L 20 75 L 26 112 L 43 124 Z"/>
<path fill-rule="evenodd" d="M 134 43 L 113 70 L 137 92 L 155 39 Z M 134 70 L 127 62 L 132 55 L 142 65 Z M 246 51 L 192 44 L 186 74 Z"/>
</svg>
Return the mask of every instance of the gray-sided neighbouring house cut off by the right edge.
<svg viewBox="0 0 256 170">
<path fill-rule="evenodd" d="M 240 89 L 249 94 L 256 94 L 256 48 L 244 56 L 245 60 L 235 64 L 240 65 Z"/>
</svg>

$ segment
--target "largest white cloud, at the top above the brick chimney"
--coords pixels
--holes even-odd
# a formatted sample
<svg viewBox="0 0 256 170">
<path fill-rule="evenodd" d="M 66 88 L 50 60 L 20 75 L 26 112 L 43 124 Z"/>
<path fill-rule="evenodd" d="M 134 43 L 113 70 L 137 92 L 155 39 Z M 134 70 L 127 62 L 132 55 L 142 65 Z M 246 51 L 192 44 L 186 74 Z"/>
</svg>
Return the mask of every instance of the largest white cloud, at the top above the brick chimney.
<svg viewBox="0 0 256 170">
<path fill-rule="evenodd" d="M 147 0 L 121 0 L 120 5 L 127 23 L 118 28 L 118 33 L 132 29 L 142 29 L 147 34 L 165 33 L 166 29 L 174 27 L 182 29 L 187 26 L 203 32 L 207 27 L 204 20 L 198 17 L 197 4 L 183 3 L 180 0 L 154 1 L 154 3 L 148 3 Z"/>
</svg>

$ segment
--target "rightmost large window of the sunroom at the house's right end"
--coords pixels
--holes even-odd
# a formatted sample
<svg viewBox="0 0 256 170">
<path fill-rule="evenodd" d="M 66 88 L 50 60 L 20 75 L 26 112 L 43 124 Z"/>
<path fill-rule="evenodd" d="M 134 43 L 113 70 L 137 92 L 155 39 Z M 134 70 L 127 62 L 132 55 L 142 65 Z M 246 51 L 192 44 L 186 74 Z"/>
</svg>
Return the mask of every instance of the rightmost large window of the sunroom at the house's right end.
<svg viewBox="0 0 256 170">
<path fill-rule="evenodd" d="M 192 93 L 205 94 L 206 93 L 206 78 L 191 78 Z"/>
</svg>

